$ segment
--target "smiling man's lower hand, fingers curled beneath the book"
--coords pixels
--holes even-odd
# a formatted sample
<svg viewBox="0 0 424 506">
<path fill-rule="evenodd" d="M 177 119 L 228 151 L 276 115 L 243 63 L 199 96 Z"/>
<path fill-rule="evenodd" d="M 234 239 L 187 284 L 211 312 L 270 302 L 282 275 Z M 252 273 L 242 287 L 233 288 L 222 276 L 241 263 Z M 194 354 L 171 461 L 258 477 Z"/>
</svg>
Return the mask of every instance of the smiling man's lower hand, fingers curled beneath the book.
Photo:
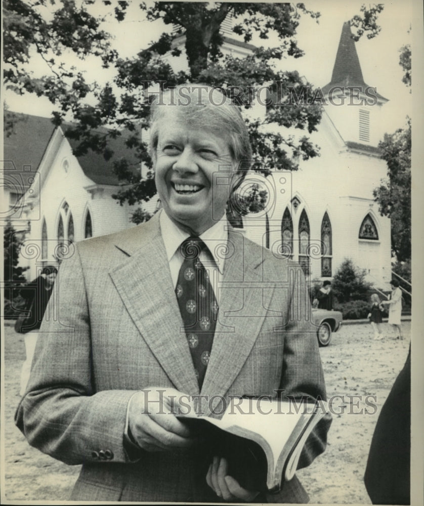
<svg viewBox="0 0 424 506">
<path fill-rule="evenodd" d="M 240 487 L 238 482 L 228 475 L 228 462 L 224 457 L 214 457 L 206 474 L 206 483 L 226 501 L 251 502 L 259 494 Z"/>
</svg>

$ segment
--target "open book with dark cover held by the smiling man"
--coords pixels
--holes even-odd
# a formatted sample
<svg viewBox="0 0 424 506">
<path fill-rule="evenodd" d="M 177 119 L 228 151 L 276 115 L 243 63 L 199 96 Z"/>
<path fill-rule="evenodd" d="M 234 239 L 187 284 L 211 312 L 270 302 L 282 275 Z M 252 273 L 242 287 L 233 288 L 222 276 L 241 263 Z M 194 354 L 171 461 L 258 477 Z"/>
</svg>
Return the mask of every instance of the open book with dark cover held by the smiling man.
<svg viewBox="0 0 424 506">
<path fill-rule="evenodd" d="M 293 478 L 302 449 L 326 402 L 234 399 L 221 419 L 178 415 L 197 432 L 204 451 L 226 457 L 229 474 L 249 490 L 278 492 Z"/>
</svg>

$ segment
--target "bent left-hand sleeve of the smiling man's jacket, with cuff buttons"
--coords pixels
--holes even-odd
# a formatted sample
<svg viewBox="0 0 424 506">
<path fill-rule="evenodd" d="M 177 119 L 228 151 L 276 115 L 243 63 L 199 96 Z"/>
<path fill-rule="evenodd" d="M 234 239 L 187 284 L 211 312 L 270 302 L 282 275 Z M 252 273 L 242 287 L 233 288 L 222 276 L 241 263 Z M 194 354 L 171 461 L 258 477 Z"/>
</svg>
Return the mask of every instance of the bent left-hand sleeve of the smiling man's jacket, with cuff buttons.
<svg viewBox="0 0 424 506">
<path fill-rule="evenodd" d="M 61 265 L 50 304 L 56 305 L 57 311 L 50 314 L 57 317 L 41 325 L 15 423 L 32 446 L 66 463 L 98 461 L 100 450 L 109 450 L 114 461 L 127 461 L 123 432 L 134 390 L 96 392 L 89 309 L 77 249 Z"/>
</svg>

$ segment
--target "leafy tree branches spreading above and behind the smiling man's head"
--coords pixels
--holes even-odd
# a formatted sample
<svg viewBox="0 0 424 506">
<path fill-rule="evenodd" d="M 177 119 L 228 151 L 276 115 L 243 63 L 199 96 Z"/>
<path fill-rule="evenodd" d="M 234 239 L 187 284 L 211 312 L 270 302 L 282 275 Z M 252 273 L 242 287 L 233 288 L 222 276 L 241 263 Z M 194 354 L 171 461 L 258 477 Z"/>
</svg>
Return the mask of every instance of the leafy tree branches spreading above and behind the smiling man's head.
<svg viewBox="0 0 424 506">
<path fill-rule="evenodd" d="M 147 96 L 148 83 L 158 83 L 164 89 L 190 81 L 223 87 L 230 96 L 235 95 L 236 89 L 242 90 L 240 106 L 244 108 L 252 106 L 258 93 L 272 99 L 265 119 L 246 119 L 255 152 L 253 161 L 264 174 L 274 169 L 296 170 L 300 159 L 319 155 L 318 146 L 306 135 L 295 136 L 279 128 L 311 134 L 320 121 L 321 109 L 314 102 L 312 105 L 290 102 L 290 88 L 299 89 L 305 83 L 297 72 L 283 72 L 275 67 L 275 62 L 286 56 L 303 55 L 295 38 L 296 29 L 302 16 L 318 20 L 318 12 L 308 10 L 302 3 L 141 3 L 139 7 L 148 21 L 161 20 L 175 30 L 162 33 L 135 57 L 123 58 L 111 47 L 111 34 L 101 27 L 106 19 L 115 23 L 124 20 L 130 3 L 119 1 L 112 5 L 104 0 L 102 4 L 102 14 L 94 15 L 92 0 L 3 3 L 5 86 L 18 94 L 28 92 L 47 97 L 57 108 L 53 113 L 57 125 L 71 113 L 75 124 L 66 128 L 66 135 L 79 141 L 75 154 L 102 151 L 109 159 L 113 151 L 108 139 L 116 137 L 119 129 L 134 131 L 135 124 L 147 128 L 152 98 Z M 362 16 L 352 20 L 358 34 L 378 32 L 376 19 L 382 9 L 380 4 L 362 7 Z M 246 42 L 253 34 L 264 40 L 273 35 L 278 46 L 251 48 L 252 54 L 243 58 L 225 55 L 221 25 L 230 14 L 236 19 L 233 31 Z M 171 61 L 181 55 L 175 40 L 182 34 L 188 71 L 175 72 Z M 90 55 L 99 58 L 103 67 L 113 66 L 116 71 L 113 82 L 102 86 L 88 82 L 74 59 L 71 65 L 62 61 L 69 52 L 80 60 Z M 46 64 L 48 73 L 43 77 L 31 73 L 29 63 L 34 55 Z M 308 94 L 313 94 L 312 87 Z M 99 134 L 101 126 L 107 126 L 108 130 Z M 141 140 L 137 143 L 133 138 L 127 144 L 140 161 L 151 167 Z M 131 167 L 132 163 L 125 165 L 122 160 L 115 165 L 115 173 L 125 184 L 116 197 L 121 203 L 125 199 L 130 204 L 146 201 L 154 195 L 153 179 L 140 182 L 138 171 L 133 173 Z"/>
</svg>

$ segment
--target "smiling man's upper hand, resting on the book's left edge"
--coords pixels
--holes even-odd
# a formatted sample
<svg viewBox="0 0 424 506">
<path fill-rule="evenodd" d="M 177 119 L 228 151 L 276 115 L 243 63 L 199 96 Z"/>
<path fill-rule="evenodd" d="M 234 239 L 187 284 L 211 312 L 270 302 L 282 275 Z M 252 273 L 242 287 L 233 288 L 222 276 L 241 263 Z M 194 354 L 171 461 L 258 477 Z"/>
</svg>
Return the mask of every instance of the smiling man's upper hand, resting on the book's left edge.
<svg viewBox="0 0 424 506">
<path fill-rule="evenodd" d="M 130 401 L 128 426 L 132 438 L 147 451 L 191 446 L 189 429 L 175 416 L 194 409 L 190 397 L 173 388 L 146 388 Z"/>
</svg>

